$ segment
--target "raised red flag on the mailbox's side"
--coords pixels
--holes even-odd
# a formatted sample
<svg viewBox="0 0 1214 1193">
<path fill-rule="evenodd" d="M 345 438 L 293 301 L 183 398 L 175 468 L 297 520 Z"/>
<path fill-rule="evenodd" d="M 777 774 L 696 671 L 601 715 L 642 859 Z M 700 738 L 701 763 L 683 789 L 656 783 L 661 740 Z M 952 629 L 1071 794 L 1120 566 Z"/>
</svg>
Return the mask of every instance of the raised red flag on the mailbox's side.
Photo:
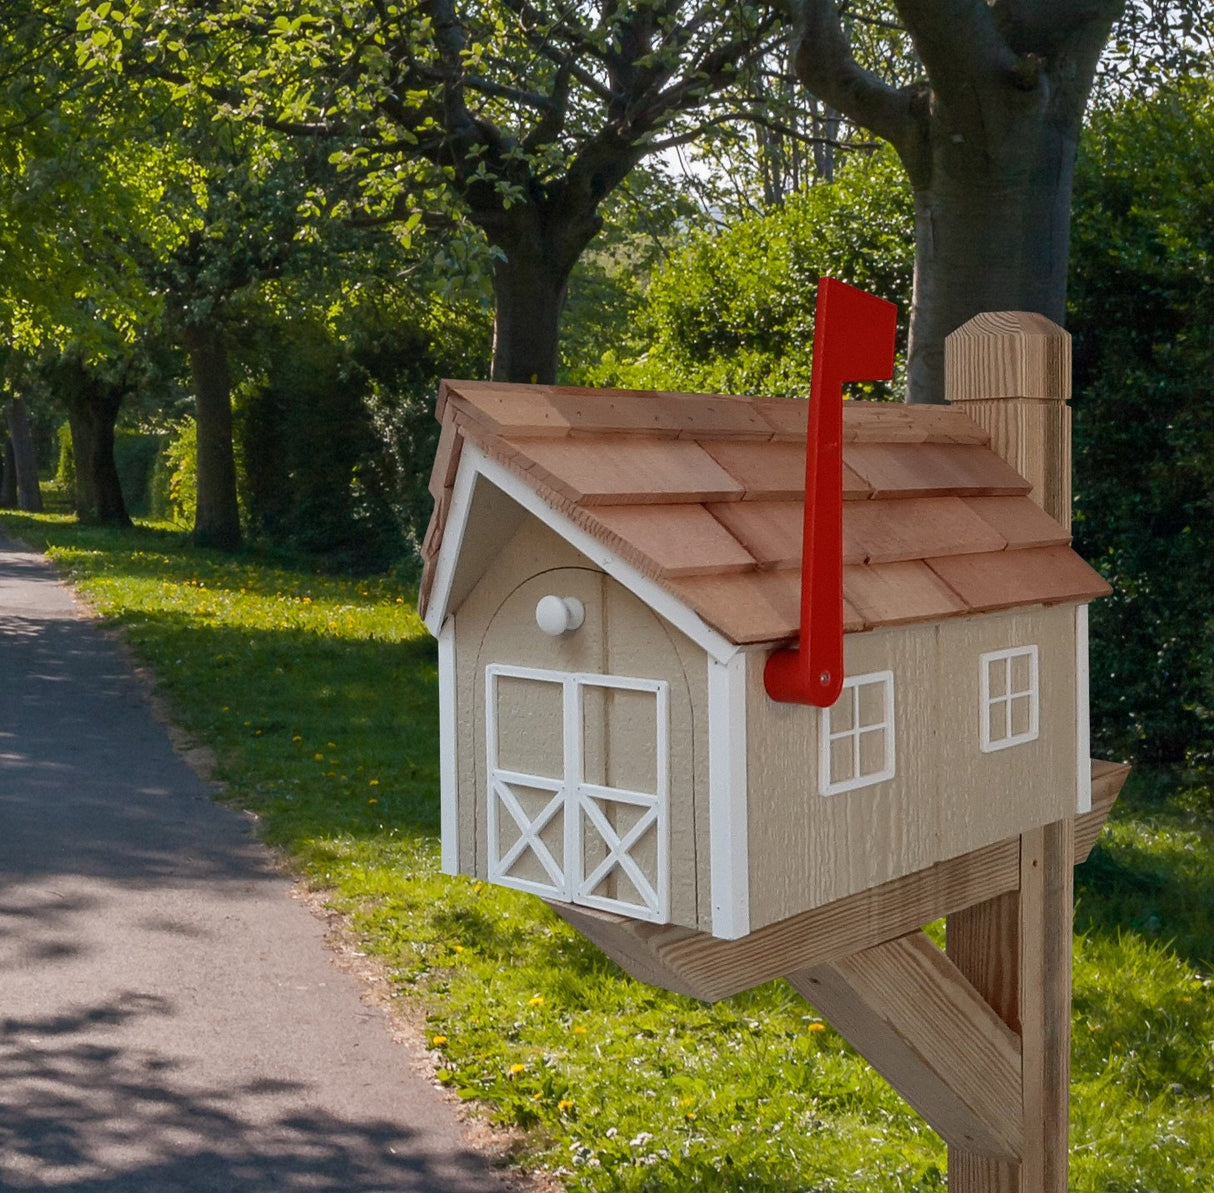
<svg viewBox="0 0 1214 1193">
<path fill-rule="evenodd" d="M 805 439 L 801 635 L 767 659 L 767 695 L 829 708 L 843 691 L 843 387 L 894 375 L 897 307 L 834 278 L 818 280 L 810 427 Z"/>
</svg>

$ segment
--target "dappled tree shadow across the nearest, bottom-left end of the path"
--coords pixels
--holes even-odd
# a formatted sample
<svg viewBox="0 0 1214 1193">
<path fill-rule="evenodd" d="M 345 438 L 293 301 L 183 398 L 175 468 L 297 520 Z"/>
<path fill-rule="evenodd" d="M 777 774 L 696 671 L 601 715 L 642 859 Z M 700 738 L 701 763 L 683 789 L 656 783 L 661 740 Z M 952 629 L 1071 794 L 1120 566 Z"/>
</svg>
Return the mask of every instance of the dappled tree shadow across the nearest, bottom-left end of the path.
<svg viewBox="0 0 1214 1193">
<path fill-rule="evenodd" d="M 346 1193 L 450 1188 L 413 1132 L 306 1106 L 294 1083 L 204 1089 L 124 1041 L 174 1013 L 125 994 L 0 1026 L 0 1188 L 58 1193 Z M 265 1113 L 257 1114 L 259 1102 Z M 250 1106 L 254 1113 L 250 1114 Z M 469 1185 L 472 1189 L 475 1186 Z"/>
</svg>

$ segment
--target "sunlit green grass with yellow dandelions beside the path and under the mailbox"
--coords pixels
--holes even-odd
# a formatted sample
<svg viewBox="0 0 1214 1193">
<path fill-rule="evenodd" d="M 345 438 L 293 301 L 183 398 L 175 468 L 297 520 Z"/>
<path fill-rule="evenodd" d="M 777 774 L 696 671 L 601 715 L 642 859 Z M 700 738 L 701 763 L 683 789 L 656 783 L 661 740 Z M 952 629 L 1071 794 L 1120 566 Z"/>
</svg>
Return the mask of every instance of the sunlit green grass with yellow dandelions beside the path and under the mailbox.
<svg viewBox="0 0 1214 1193">
<path fill-rule="evenodd" d="M 5 515 L 155 669 L 177 721 L 429 1016 L 442 1080 L 571 1191 L 937 1189 L 938 1140 L 776 982 L 626 978 L 538 902 L 438 874 L 435 649 L 413 593 L 164 529 Z M 1072 1188 L 1214 1187 L 1214 797 L 1131 779 L 1079 871 Z"/>
</svg>

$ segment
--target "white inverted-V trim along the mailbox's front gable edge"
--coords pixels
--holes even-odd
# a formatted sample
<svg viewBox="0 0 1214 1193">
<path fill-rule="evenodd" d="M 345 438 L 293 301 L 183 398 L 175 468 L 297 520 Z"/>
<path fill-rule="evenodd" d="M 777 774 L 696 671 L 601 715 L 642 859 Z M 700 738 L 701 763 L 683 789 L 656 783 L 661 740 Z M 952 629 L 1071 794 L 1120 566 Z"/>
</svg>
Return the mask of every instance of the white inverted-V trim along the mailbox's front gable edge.
<svg viewBox="0 0 1214 1193">
<path fill-rule="evenodd" d="M 554 510 L 531 485 L 516 477 L 509 468 L 503 467 L 497 460 L 489 459 L 480 448 L 467 441 L 465 441 L 464 450 L 460 453 L 459 471 L 452 492 L 452 506 L 447 515 L 447 529 L 443 533 L 443 545 L 438 551 L 435 583 L 426 609 L 425 623 L 431 634 L 437 636 L 438 627 L 447 618 L 447 606 L 450 601 L 464 536 L 467 533 L 469 510 L 472 505 L 472 493 L 477 477 L 483 477 L 507 498 L 521 505 L 528 513 L 580 551 L 591 563 L 602 568 L 613 580 L 624 585 L 654 613 L 686 634 L 692 642 L 717 663 L 726 663 L 738 654 L 739 648 L 724 635 L 717 634 L 698 613 L 683 604 L 677 597 L 671 596 L 632 564 L 626 563 L 609 547 L 603 546 L 571 518 Z"/>
</svg>

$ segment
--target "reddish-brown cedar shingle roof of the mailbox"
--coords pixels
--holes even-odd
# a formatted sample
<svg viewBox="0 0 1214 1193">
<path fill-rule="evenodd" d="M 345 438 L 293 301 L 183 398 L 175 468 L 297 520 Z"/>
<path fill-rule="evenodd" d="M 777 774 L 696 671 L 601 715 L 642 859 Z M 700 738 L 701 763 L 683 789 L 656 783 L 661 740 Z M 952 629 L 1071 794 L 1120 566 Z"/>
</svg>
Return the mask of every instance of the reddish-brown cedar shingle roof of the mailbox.
<svg viewBox="0 0 1214 1193">
<path fill-rule="evenodd" d="M 444 381 L 422 612 L 465 441 L 739 644 L 798 634 L 804 402 Z M 847 631 L 1110 589 L 960 409 L 844 407 Z"/>
</svg>

